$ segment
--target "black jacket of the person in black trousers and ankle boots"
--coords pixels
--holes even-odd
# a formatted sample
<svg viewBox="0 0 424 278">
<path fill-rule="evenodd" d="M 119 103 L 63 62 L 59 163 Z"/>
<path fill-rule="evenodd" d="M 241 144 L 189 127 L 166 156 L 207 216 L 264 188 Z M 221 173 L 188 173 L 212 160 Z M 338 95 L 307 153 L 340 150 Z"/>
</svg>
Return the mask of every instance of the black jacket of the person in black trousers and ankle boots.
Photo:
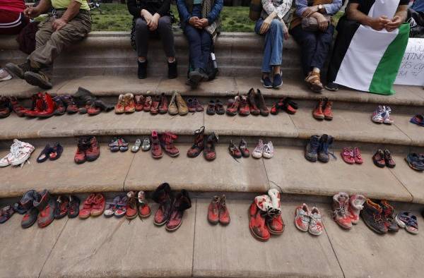
<svg viewBox="0 0 424 278">
<path fill-rule="evenodd" d="M 127 0 L 126 6 L 134 18 L 141 17 L 141 10 L 146 10 L 152 15 L 158 13 L 160 16 L 170 14 L 171 0 Z"/>
</svg>

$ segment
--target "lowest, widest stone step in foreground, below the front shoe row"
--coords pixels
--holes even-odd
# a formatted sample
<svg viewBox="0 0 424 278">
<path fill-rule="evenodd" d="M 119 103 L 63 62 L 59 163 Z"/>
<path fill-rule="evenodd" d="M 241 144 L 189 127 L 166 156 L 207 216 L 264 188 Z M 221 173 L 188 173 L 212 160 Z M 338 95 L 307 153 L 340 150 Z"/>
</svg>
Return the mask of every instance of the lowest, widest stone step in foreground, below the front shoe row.
<svg viewBox="0 0 424 278">
<path fill-rule="evenodd" d="M 251 200 L 228 199 L 232 222 L 225 227 L 206 221 L 209 201 L 194 198 L 174 233 L 154 226 L 153 217 L 66 217 L 24 230 L 15 214 L 1 225 L 0 277 L 420 277 L 424 270 L 423 233 L 379 236 L 362 221 L 344 231 L 326 203 L 284 199 L 285 231 L 263 243 L 249 232 Z M 304 201 L 324 215 L 319 237 L 293 224 Z"/>
</svg>

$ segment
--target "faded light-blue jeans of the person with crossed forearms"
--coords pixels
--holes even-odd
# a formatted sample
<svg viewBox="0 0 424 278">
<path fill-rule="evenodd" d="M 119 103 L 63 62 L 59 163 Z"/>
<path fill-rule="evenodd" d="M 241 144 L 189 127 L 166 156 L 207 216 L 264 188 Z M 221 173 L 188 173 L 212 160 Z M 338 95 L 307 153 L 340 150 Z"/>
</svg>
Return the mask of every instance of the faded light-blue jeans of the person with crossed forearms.
<svg viewBox="0 0 424 278">
<path fill-rule="evenodd" d="M 264 23 L 262 18 L 259 18 L 254 26 L 254 32 L 260 34 L 261 25 Z M 264 58 L 262 60 L 262 72 L 271 73 L 273 66 L 281 66 L 283 62 L 283 40 L 284 31 L 283 23 L 278 19 L 273 19 L 271 26 L 265 35 Z"/>
</svg>

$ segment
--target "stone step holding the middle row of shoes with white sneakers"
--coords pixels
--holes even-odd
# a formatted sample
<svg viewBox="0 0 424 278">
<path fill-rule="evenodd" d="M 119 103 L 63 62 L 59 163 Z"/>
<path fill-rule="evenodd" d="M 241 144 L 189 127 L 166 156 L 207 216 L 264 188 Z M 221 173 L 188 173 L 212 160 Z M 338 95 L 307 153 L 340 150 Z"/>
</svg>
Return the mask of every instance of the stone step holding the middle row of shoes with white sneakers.
<svg viewBox="0 0 424 278">
<path fill-rule="evenodd" d="M 45 142 L 46 143 L 46 142 Z M 35 162 L 43 145 L 36 145 L 30 164 L 0 169 L 0 198 L 23 195 L 30 189 L 47 188 L 54 194 L 105 191 L 153 191 L 168 181 L 176 190 L 192 192 L 257 193 L 280 188 L 290 195 L 329 197 L 334 193 L 361 193 L 369 198 L 424 204 L 423 173 L 413 171 L 404 161 L 406 153 L 394 153 L 394 169 L 379 169 L 372 163 L 372 152 L 363 150 L 363 165 L 337 159 L 327 164 L 311 163 L 304 158 L 303 147 L 276 146 L 272 159 L 233 159 L 227 145 L 218 144 L 217 158 L 191 159 L 186 152 L 191 145 L 179 143 L 177 158 L 164 155 L 153 159 L 150 152 L 112 153 L 105 143 L 95 162 L 73 162 L 76 144 L 64 144 L 62 157 L 42 164 Z M 1 150 L 0 157 L 8 151 Z M 184 173 L 184 174 L 182 174 Z"/>
</svg>

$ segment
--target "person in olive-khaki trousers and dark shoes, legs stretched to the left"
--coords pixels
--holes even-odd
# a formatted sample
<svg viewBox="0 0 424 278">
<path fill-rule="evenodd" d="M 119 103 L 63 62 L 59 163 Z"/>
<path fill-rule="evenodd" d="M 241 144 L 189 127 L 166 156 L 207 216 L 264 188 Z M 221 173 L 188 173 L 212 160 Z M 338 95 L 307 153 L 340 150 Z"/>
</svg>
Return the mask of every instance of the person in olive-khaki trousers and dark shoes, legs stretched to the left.
<svg viewBox="0 0 424 278">
<path fill-rule="evenodd" d="M 41 0 L 36 7 L 26 8 L 23 13 L 37 18 L 50 8 L 53 8 L 52 13 L 38 25 L 35 51 L 28 60 L 20 65 L 6 64 L 10 73 L 45 90 L 52 88 L 50 80 L 54 59 L 91 30 L 90 8 L 86 0 Z"/>
</svg>

